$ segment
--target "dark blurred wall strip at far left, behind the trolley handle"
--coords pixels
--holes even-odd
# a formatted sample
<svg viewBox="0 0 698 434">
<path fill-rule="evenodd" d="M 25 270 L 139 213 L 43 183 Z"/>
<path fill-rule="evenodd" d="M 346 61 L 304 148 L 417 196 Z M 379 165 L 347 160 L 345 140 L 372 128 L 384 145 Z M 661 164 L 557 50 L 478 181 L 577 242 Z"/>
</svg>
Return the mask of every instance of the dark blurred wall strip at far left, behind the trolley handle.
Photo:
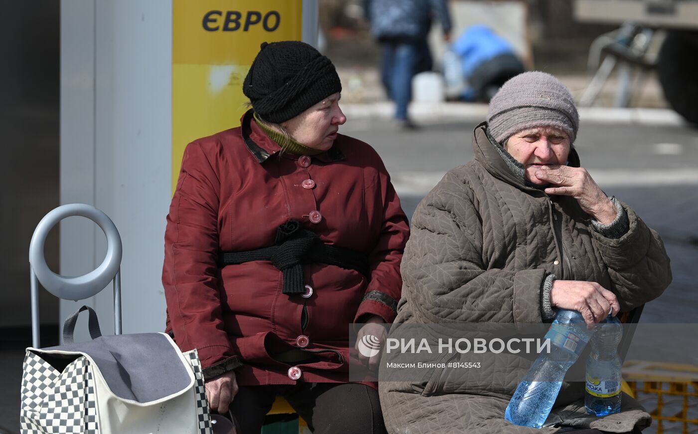
<svg viewBox="0 0 698 434">
<path fill-rule="evenodd" d="M 29 240 L 59 204 L 59 8 L 0 1 L 0 342 L 31 340 Z M 58 250 L 54 229 L 45 248 L 52 270 Z M 43 292 L 40 310 L 42 324 L 57 324 L 57 298 Z M 47 335 L 57 338 L 57 328 Z"/>
</svg>

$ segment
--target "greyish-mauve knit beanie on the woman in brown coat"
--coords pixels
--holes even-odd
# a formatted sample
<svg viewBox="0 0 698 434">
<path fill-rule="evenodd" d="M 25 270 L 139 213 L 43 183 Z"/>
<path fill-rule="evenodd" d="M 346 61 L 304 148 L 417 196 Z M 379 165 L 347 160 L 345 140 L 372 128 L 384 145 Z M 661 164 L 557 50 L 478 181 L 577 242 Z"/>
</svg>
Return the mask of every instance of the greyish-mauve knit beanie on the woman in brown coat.
<svg viewBox="0 0 698 434">
<path fill-rule="evenodd" d="M 525 72 L 504 83 L 489 102 L 489 132 L 499 143 L 521 130 L 555 126 L 574 143 L 579 113 L 574 99 L 560 80 L 540 71 Z"/>
</svg>

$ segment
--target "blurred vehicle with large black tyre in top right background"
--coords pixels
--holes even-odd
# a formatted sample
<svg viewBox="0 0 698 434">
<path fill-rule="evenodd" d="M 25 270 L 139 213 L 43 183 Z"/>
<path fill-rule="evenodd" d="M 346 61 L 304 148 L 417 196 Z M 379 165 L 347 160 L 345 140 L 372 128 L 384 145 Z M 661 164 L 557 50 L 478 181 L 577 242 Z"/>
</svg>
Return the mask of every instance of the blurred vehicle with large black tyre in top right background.
<svg viewBox="0 0 698 434">
<path fill-rule="evenodd" d="M 620 62 L 625 85 L 616 105 L 628 103 L 631 68 L 654 69 L 671 108 L 688 122 L 698 124 L 698 1 L 575 0 L 574 15 L 581 22 L 626 23 L 613 36 L 608 35 L 606 43 L 606 35 L 598 38 L 604 43 L 602 52 L 612 62 L 604 60 L 600 65 L 582 105 L 593 102 L 594 92 Z"/>
</svg>

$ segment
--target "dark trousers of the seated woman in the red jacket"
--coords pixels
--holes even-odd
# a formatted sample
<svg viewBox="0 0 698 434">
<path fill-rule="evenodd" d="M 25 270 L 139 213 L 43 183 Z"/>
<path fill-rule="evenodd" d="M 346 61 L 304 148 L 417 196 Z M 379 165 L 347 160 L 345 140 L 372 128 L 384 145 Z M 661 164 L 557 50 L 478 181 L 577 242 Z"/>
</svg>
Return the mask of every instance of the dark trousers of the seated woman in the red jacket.
<svg viewBox="0 0 698 434">
<path fill-rule="evenodd" d="M 313 433 L 385 433 L 378 391 L 352 383 L 240 386 L 230 407 L 238 432 L 259 433 L 276 396 L 288 400 Z"/>
</svg>

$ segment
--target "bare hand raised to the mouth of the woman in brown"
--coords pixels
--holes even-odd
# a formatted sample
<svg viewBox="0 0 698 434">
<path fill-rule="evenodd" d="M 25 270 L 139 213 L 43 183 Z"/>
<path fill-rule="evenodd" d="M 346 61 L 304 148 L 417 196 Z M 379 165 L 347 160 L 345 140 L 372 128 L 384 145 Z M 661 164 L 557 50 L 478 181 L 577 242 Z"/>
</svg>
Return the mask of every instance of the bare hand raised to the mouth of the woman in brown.
<svg viewBox="0 0 698 434">
<path fill-rule="evenodd" d="M 540 166 L 535 177 L 550 182 L 554 187 L 545 189 L 547 194 L 572 196 L 579 206 L 597 222 L 608 224 L 616 219 L 616 207 L 599 188 L 586 169 L 570 166 Z"/>
</svg>

